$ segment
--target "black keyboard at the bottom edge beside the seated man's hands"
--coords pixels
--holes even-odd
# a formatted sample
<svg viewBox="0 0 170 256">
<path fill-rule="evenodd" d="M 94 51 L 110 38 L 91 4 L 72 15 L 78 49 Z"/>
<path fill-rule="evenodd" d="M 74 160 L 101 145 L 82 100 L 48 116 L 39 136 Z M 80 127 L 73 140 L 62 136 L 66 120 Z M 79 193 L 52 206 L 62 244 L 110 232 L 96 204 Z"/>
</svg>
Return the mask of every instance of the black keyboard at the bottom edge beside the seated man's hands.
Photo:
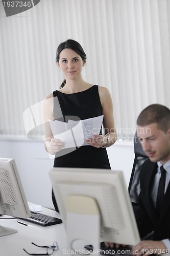
<svg viewBox="0 0 170 256">
<path fill-rule="evenodd" d="M 85 246 L 86 250 L 93 250 L 92 245 L 86 245 Z M 122 255 L 131 255 L 131 246 L 122 246 L 120 245 L 119 248 L 115 247 L 106 247 L 105 243 L 101 243 L 101 251 L 100 254 L 107 254 L 107 255 L 112 255 L 112 256 L 122 256 Z"/>
</svg>

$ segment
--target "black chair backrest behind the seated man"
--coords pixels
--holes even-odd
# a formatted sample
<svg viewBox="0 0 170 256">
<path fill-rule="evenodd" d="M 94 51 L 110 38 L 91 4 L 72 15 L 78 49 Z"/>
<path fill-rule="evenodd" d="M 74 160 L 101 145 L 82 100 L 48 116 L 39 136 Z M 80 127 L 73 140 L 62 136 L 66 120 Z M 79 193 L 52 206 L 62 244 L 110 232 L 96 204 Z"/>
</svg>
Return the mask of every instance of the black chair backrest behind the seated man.
<svg viewBox="0 0 170 256">
<path fill-rule="evenodd" d="M 132 173 L 129 181 L 129 194 L 131 197 L 131 202 L 133 205 L 138 205 L 138 195 L 140 193 L 140 182 L 139 182 L 139 176 L 140 176 L 140 169 L 143 164 L 143 162 L 148 159 L 147 155 L 142 150 L 142 146 L 136 136 L 134 136 L 134 163 L 132 167 Z"/>
</svg>

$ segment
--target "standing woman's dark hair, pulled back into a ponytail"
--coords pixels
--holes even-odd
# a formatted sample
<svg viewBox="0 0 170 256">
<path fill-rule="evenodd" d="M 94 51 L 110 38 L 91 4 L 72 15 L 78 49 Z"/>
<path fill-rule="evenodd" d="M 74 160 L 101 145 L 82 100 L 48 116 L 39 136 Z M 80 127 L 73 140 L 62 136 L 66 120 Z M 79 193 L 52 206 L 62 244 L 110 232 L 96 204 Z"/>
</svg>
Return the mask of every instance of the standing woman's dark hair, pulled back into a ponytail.
<svg viewBox="0 0 170 256">
<path fill-rule="evenodd" d="M 72 39 L 68 39 L 64 42 L 61 42 L 61 44 L 58 46 L 57 48 L 57 53 L 56 53 L 56 62 L 59 62 L 59 59 L 60 59 L 60 52 L 64 49 L 71 49 L 75 52 L 77 52 L 83 61 L 86 62 L 86 54 L 82 48 L 82 46 L 79 44 L 79 42 L 75 41 L 75 40 L 72 40 Z M 64 81 L 62 82 L 61 86 L 60 86 L 60 89 L 63 88 L 65 86 L 65 79 Z"/>
</svg>

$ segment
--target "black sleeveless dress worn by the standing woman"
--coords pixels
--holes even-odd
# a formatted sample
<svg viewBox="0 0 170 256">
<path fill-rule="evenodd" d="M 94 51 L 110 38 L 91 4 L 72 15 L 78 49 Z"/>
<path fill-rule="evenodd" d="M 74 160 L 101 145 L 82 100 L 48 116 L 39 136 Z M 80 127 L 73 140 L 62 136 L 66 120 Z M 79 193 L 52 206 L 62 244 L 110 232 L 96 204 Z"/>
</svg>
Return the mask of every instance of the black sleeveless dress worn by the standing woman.
<svg viewBox="0 0 170 256">
<path fill-rule="evenodd" d="M 83 120 L 102 115 L 102 105 L 98 86 L 96 85 L 83 92 L 72 94 L 55 91 L 53 92 L 53 96 L 54 117 L 57 120 Z M 68 149 L 68 152 L 67 149 L 63 149 L 56 154 L 54 167 L 111 169 L 106 148 L 96 148 L 88 145 L 81 146 L 76 150 L 74 149 L 72 152 Z M 55 209 L 58 211 L 53 191 L 52 199 Z"/>
</svg>

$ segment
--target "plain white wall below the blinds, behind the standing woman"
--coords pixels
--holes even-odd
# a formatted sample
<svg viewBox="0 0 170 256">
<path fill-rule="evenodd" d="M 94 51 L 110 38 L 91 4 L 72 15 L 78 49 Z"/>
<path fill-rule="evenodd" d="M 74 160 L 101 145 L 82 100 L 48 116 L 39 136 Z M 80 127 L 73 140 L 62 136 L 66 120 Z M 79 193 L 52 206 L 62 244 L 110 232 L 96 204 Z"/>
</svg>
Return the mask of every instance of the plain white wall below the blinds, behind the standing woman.
<svg viewBox="0 0 170 256">
<path fill-rule="evenodd" d="M 128 186 L 134 160 L 133 144 L 116 142 L 108 148 L 108 155 L 111 168 L 123 170 Z M 1 139 L 0 157 L 15 159 L 28 201 L 54 208 L 48 177 L 53 160 L 45 152 L 43 141 Z"/>
</svg>

